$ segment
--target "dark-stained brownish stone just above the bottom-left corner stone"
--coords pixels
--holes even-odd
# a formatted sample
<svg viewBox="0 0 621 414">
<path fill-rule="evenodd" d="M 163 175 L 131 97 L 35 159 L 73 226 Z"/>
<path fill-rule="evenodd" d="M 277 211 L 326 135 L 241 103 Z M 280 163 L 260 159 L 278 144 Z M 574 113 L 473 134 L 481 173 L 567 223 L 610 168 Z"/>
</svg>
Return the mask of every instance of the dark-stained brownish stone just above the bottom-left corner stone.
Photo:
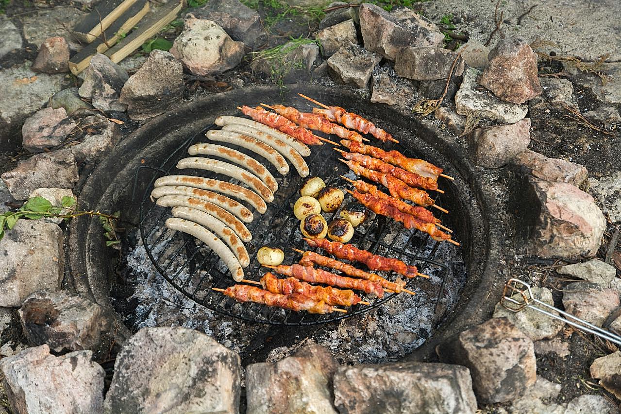
<svg viewBox="0 0 621 414">
<path fill-rule="evenodd" d="M 47 344 L 56 353 L 95 351 L 109 328 L 101 306 L 66 290 L 35 292 L 18 313 L 30 345 Z"/>
</svg>

